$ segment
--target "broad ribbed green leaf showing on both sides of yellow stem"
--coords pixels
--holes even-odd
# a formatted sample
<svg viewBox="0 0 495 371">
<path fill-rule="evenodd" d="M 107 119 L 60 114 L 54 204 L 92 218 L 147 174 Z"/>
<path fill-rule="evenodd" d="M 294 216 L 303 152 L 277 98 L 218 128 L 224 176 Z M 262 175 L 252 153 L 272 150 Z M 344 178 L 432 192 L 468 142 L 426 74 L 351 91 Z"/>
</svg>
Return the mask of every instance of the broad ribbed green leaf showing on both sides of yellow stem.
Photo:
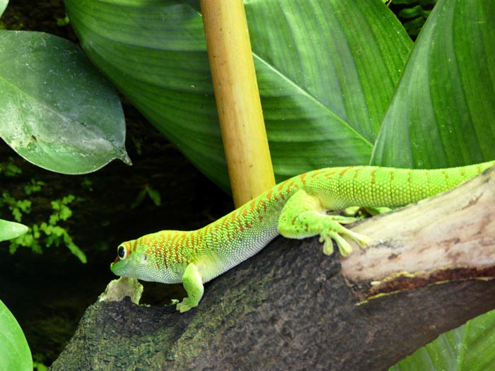
<svg viewBox="0 0 495 371">
<path fill-rule="evenodd" d="M 91 59 L 206 175 L 228 187 L 197 1 L 66 0 Z M 247 1 L 278 179 L 368 163 L 412 42 L 380 0 Z"/>
</svg>

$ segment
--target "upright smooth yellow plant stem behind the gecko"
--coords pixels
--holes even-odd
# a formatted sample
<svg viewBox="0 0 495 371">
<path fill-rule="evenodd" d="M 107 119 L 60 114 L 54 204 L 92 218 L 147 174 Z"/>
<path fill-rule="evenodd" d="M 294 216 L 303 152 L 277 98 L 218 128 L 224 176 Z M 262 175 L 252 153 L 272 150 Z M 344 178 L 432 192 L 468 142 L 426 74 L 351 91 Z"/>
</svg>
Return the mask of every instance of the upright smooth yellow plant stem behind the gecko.
<svg viewBox="0 0 495 371">
<path fill-rule="evenodd" d="M 201 0 L 235 206 L 275 184 L 242 0 Z"/>
</svg>

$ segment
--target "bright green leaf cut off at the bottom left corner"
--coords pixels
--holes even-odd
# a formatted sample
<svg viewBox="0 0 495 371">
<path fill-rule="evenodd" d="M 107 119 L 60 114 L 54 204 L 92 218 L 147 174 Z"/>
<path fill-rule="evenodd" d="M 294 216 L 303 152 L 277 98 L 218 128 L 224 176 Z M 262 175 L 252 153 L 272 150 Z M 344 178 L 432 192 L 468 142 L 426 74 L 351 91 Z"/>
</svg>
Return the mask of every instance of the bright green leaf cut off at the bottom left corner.
<svg viewBox="0 0 495 371">
<path fill-rule="evenodd" d="M 0 370 L 31 371 L 33 360 L 21 326 L 0 300 Z"/>
</svg>

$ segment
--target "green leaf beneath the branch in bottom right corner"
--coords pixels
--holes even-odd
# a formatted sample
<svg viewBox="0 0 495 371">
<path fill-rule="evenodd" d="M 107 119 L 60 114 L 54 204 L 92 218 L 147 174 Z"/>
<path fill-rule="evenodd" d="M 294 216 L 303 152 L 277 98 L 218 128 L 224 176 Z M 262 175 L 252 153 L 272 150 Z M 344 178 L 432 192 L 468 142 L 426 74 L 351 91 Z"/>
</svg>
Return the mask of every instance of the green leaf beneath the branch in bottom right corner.
<svg viewBox="0 0 495 371">
<path fill-rule="evenodd" d="M 491 370 L 495 365 L 495 311 L 448 331 L 390 371 Z"/>
</svg>

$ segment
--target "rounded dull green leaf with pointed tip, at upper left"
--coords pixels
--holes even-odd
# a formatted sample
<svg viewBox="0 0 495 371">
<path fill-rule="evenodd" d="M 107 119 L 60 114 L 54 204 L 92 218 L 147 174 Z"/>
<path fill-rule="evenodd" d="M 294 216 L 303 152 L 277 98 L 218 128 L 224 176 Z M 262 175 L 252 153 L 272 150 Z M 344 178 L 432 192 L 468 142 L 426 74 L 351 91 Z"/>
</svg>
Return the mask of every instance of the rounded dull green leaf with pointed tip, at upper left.
<svg viewBox="0 0 495 371">
<path fill-rule="evenodd" d="M 71 42 L 0 31 L 0 91 L 0 136 L 35 165 L 81 174 L 129 162 L 117 93 Z"/>
</svg>

